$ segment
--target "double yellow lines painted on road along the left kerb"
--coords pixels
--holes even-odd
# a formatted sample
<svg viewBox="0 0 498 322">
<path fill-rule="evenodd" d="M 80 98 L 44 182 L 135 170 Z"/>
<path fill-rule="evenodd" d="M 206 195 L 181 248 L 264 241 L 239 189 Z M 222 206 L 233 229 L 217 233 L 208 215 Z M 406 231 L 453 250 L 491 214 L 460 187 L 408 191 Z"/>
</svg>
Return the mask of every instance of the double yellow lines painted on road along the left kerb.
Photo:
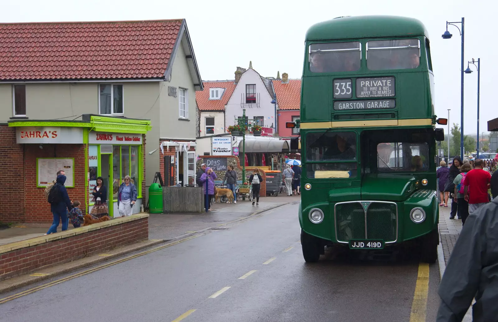
<svg viewBox="0 0 498 322">
<path fill-rule="evenodd" d="M 123 259 L 119 259 L 117 261 L 111 262 L 111 263 L 107 263 L 107 264 L 104 264 L 104 265 L 101 265 L 101 266 L 97 266 L 95 268 L 92 268 L 92 269 L 89 269 L 89 270 L 86 270 L 86 271 L 83 271 L 83 272 L 80 272 L 80 273 L 77 273 L 77 274 L 74 274 L 74 275 L 70 275 L 70 276 L 61 278 L 59 280 L 52 281 L 52 282 L 47 283 L 47 284 L 43 284 L 43 285 L 34 287 L 32 289 L 29 289 L 29 290 L 22 291 L 22 292 L 19 292 L 17 294 L 13 294 L 11 296 L 7 296 L 7 297 L 5 297 L 3 299 L 0 299 L 0 304 L 3 304 L 3 303 L 8 302 L 8 301 L 15 300 L 15 299 L 20 298 L 22 296 L 25 296 L 25 295 L 28 295 L 28 294 L 31 294 L 31 293 L 34 293 L 34 292 L 46 289 L 48 287 L 51 287 L 51 286 L 54 286 L 54 285 L 57 285 L 57 284 L 60 284 L 60 283 L 63 283 L 63 282 L 75 279 L 75 278 L 80 277 L 80 276 L 87 275 L 87 274 L 90 274 L 90 273 L 93 273 L 93 272 L 97 272 L 97 271 L 100 271 L 100 270 L 102 270 L 104 268 L 107 268 L 107 267 L 110 267 L 110 266 L 114 266 L 116 264 L 120 264 L 120 263 L 123 263 L 125 261 L 129 261 L 130 259 L 137 258 L 137 257 L 143 256 L 143 255 L 146 255 L 146 254 L 150 254 L 152 252 L 161 250 L 163 248 L 170 247 L 170 246 L 182 243 L 184 241 L 197 238 L 199 236 L 202 236 L 202 235 L 191 236 L 189 238 L 181 239 L 181 240 L 178 240 L 178 241 L 176 241 L 174 243 L 171 243 L 171 244 L 163 245 L 163 246 L 160 246 L 160 247 L 157 247 L 157 248 L 145 251 L 145 252 L 141 252 L 141 253 L 138 253 L 138 254 L 135 254 L 135 255 L 131 255 L 131 256 L 125 257 Z"/>
</svg>

